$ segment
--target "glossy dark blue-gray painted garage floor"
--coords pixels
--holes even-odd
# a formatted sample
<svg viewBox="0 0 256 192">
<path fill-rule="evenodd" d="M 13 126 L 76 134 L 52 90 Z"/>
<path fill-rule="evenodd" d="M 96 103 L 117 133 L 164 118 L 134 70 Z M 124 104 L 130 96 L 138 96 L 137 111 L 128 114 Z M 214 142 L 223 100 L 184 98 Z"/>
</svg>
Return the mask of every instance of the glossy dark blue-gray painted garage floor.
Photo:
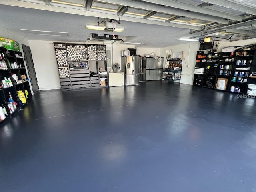
<svg viewBox="0 0 256 192">
<path fill-rule="evenodd" d="M 255 107 L 161 81 L 42 91 L 0 127 L 0 191 L 253 192 Z"/>
</svg>

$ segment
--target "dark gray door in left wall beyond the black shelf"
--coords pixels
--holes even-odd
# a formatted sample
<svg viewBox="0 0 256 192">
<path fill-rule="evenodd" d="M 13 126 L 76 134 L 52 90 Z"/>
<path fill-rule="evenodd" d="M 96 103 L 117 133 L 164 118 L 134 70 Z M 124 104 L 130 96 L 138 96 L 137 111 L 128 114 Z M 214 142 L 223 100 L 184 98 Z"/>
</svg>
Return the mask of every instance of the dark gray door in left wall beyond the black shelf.
<svg viewBox="0 0 256 192">
<path fill-rule="evenodd" d="M 36 93 L 38 92 L 39 87 L 38 87 L 38 82 L 36 78 L 36 71 L 34 68 L 34 62 L 31 54 L 31 50 L 29 46 L 26 46 L 24 44 L 22 44 L 22 49 L 23 49 L 24 58 L 26 61 L 27 69 L 28 69 L 28 75 L 30 78 L 32 90 L 34 93 Z"/>
</svg>

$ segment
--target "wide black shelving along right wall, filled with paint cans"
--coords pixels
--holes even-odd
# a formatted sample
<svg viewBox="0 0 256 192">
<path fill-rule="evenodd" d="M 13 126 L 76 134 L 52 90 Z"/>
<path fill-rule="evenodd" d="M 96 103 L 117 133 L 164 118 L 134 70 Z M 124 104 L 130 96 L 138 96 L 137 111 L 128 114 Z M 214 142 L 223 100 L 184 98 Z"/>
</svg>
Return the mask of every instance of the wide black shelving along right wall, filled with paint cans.
<svg viewBox="0 0 256 192">
<path fill-rule="evenodd" d="M 248 84 L 256 84 L 256 76 L 250 76 L 256 73 L 256 50 L 214 53 L 211 60 L 207 54 L 205 64 L 202 60 L 206 54 L 202 51 L 199 54 L 202 59 L 197 58 L 196 67 L 205 68 L 204 74 L 194 74 L 194 86 L 246 94 Z M 224 89 L 219 86 L 219 80 L 225 80 Z"/>
</svg>

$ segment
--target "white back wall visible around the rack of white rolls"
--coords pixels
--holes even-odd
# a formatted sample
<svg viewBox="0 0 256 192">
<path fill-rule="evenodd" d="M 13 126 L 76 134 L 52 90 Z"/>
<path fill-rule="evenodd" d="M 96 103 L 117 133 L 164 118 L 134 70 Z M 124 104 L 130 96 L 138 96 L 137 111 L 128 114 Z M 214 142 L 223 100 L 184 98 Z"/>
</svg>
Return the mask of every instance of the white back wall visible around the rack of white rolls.
<svg viewBox="0 0 256 192">
<path fill-rule="evenodd" d="M 88 44 L 94 43 L 89 42 Z M 29 45 L 34 60 L 39 90 L 60 89 L 60 80 L 53 42 L 30 40 Z M 119 42 L 114 43 L 113 63 L 121 64 L 122 50 L 127 50 L 128 48 L 134 48 L 134 45 L 120 44 Z M 106 49 L 111 50 L 111 44 L 106 44 Z M 159 48 L 137 48 L 137 54 L 142 56 L 152 52 L 155 52 L 156 55 L 160 55 Z"/>
</svg>

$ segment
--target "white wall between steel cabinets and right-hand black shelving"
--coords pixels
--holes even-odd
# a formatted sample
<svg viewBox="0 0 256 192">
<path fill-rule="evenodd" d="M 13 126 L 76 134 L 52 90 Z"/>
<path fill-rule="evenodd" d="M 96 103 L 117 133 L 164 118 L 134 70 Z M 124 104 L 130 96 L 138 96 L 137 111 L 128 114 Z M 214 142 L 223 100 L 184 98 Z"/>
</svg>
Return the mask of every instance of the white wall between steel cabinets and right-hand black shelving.
<svg viewBox="0 0 256 192">
<path fill-rule="evenodd" d="M 184 52 L 185 58 L 182 61 L 182 76 L 180 82 L 192 85 L 194 78 L 194 68 L 196 65 L 196 52 L 199 50 L 199 42 L 161 48 L 160 56 L 164 57 L 164 64 L 166 63 L 166 50 L 172 50 L 172 53 L 182 51 Z"/>
</svg>

